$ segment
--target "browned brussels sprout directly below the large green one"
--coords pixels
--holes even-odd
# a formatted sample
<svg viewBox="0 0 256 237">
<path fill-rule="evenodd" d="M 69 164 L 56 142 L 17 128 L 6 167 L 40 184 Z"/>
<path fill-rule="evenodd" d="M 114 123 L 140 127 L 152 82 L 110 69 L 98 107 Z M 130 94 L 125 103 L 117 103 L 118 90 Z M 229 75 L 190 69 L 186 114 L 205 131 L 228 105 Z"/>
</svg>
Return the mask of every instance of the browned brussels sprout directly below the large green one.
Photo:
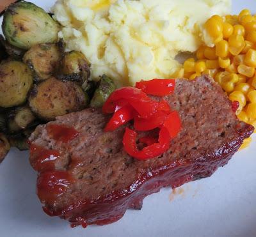
<svg viewBox="0 0 256 237">
<path fill-rule="evenodd" d="M 35 72 L 35 78 L 37 80 L 44 80 L 51 77 L 60 59 L 60 49 L 55 43 L 34 45 L 23 57 L 24 63 Z"/>
</svg>

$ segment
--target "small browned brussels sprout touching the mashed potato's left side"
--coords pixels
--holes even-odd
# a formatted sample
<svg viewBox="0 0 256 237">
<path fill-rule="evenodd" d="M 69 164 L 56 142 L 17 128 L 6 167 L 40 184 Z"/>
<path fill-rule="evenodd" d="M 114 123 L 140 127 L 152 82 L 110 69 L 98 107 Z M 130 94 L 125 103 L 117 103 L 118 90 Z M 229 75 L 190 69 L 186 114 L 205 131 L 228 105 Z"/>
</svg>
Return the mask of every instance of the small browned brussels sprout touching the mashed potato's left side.
<svg viewBox="0 0 256 237">
<path fill-rule="evenodd" d="M 90 63 L 81 52 L 66 52 L 61 60 L 60 79 L 83 84 L 90 77 Z"/>
</svg>

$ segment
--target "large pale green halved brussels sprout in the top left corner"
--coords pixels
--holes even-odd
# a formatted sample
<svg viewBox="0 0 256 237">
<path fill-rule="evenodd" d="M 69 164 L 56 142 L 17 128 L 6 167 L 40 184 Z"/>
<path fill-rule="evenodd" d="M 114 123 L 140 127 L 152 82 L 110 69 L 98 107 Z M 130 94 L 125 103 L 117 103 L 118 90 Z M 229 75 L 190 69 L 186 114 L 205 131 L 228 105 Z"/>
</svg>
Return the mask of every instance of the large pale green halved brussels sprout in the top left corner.
<svg viewBox="0 0 256 237">
<path fill-rule="evenodd" d="M 42 8 L 21 1 L 7 8 L 2 29 L 11 45 L 30 49 L 38 43 L 57 42 L 60 25 Z"/>
</svg>

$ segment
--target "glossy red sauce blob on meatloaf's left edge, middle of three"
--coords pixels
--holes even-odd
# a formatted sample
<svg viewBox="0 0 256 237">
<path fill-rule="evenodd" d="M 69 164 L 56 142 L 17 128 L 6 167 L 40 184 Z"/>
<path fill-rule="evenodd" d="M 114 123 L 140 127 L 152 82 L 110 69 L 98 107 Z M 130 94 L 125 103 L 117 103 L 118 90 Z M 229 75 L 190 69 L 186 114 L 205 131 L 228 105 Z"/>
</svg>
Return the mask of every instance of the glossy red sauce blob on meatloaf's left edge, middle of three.
<svg viewBox="0 0 256 237">
<path fill-rule="evenodd" d="M 55 162 L 60 153 L 53 149 L 45 149 L 42 146 L 31 144 L 30 146 L 31 165 L 38 171 L 52 171 L 55 169 Z"/>
</svg>

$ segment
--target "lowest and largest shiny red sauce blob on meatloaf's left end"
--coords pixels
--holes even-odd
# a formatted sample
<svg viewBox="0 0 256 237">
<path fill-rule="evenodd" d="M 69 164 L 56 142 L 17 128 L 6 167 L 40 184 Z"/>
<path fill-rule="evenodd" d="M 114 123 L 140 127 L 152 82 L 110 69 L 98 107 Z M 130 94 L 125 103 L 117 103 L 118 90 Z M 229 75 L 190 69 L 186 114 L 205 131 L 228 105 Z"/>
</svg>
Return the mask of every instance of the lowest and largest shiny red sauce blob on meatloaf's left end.
<svg viewBox="0 0 256 237">
<path fill-rule="evenodd" d="M 37 178 L 37 195 L 42 202 L 54 203 L 72 182 L 72 176 L 66 171 L 42 172 Z"/>
</svg>

